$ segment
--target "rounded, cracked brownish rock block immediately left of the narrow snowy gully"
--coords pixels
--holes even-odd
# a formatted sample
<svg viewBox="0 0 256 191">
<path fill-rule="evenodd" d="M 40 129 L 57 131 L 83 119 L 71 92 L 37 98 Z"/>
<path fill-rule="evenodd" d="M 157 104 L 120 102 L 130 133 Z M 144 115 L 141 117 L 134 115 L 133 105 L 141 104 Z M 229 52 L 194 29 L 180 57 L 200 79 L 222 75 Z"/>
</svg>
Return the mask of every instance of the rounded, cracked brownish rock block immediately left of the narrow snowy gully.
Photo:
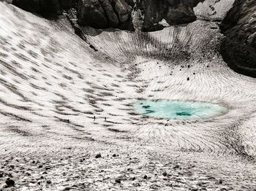
<svg viewBox="0 0 256 191">
<path fill-rule="evenodd" d="M 128 1 L 132 5 L 131 1 Z M 94 28 L 122 28 L 133 31 L 132 7 L 124 0 L 79 0 L 78 23 Z"/>
</svg>

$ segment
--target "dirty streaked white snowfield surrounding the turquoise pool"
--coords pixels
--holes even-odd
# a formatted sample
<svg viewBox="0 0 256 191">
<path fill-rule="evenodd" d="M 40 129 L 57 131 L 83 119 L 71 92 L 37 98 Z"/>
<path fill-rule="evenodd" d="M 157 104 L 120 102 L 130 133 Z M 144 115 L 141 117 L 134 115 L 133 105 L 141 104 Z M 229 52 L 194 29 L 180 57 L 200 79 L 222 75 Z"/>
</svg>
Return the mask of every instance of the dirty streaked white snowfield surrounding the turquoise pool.
<svg viewBox="0 0 256 191">
<path fill-rule="evenodd" d="M 98 51 L 67 20 L 0 2 L 1 187 L 11 177 L 9 190 L 255 188 L 256 79 L 222 61 L 216 24 L 85 31 Z M 148 98 L 229 111 L 189 121 L 135 114 Z"/>
</svg>

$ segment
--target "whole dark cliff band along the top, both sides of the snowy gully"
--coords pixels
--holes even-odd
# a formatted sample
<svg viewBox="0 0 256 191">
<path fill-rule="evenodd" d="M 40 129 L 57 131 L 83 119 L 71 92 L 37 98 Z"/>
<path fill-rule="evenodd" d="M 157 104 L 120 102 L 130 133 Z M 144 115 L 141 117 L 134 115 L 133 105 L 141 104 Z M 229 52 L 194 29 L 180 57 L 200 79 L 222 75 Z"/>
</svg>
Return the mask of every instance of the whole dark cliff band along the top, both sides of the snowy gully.
<svg viewBox="0 0 256 191">
<path fill-rule="evenodd" d="M 195 7 L 204 0 L 13 0 L 12 4 L 44 16 L 59 15 L 61 10 L 74 8 L 80 26 L 134 30 L 132 13 L 140 11 L 143 31 L 196 20 Z"/>
</svg>

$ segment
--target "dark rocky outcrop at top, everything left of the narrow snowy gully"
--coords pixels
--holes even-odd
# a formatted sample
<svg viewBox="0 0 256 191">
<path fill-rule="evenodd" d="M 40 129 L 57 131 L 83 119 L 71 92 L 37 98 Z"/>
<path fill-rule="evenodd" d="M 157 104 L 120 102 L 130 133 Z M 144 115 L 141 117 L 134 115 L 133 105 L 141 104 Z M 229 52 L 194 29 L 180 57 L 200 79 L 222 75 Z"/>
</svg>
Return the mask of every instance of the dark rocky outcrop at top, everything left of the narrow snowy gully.
<svg viewBox="0 0 256 191">
<path fill-rule="evenodd" d="M 13 0 L 12 4 L 45 17 L 55 17 L 63 9 L 74 8 L 81 26 L 134 30 L 133 0 Z"/>
</svg>

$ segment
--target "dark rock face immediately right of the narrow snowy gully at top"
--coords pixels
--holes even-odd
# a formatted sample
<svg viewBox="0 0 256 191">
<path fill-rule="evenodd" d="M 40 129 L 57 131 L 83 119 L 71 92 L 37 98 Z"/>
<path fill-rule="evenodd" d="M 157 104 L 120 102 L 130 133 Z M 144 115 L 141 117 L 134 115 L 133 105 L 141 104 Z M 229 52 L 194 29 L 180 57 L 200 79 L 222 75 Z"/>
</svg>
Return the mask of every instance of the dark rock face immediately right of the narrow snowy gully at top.
<svg viewBox="0 0 256 191">
<path fill-rule="evenodd" d="M 168 24 L 191 23 L 196 20 L 195 7 L 204 0 L 141 0 L 138 7 L 144 15 L 143 31 L 155 31 L 162 26 L 159 22 L 165 19 Z"/>
</svg>

